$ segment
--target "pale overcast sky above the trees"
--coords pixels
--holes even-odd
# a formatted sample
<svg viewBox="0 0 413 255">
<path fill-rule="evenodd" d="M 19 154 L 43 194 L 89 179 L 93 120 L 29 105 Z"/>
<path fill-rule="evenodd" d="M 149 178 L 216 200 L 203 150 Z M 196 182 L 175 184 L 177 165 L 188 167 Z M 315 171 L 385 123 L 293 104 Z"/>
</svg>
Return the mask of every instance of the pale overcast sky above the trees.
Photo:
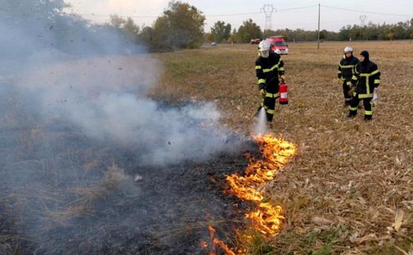
<svg viewBox="0 0 413 255">
<path fill-rule="evenodd" d="M 65 0 L 73 7 L 68 12 L 81 14 L 97 23 L 106 22 L 110 14 L 132 17 L 137 25 L 152 26 L 157 16 L 168 8 L 168 0 Z M 261 29 L 265 14 L 271 15 L 272 29 L 317 29 L 318 0 L 251 1 L 251 0 L 190 0 L 206 17 L 205 31 L 209 32 L 218 20 L 233 28 L 251 18 Z M 321 30 L 339 31 L 348 24 L 397 23 L 413 18 L 413 0 L 321 0 Z M 337 9 L 334 9 L 337 8 Z M 341 9 L 340 9 L 341 8 Z M 289 10 L 290 9 L 290 10 Z M 343 10 L 348 9 L 348 10 Z"/>
</svg>

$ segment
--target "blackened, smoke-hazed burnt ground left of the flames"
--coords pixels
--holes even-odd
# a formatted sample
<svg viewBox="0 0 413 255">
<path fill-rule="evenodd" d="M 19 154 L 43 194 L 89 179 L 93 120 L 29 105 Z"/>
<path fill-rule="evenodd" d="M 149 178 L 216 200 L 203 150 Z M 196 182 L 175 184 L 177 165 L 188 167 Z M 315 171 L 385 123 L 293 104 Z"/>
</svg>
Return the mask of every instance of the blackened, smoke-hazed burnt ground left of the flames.
<svg viewBox="0 0 413 255">
<path fill-rule="evenodd" d="M 16 105 L 8 100 L 3 110 Z M 0 127 L 0 254 L 205 254 L 208 224 L 235 240 L 248 204 L 223 190 L 226 174 L 245 169 L 242 153 L 141 165 L 139 148 L 38 123 L 29 111 L 2 112 L 10 121 Z M 245 141 L 245 151 L 255 148 Z"/>
</svg>

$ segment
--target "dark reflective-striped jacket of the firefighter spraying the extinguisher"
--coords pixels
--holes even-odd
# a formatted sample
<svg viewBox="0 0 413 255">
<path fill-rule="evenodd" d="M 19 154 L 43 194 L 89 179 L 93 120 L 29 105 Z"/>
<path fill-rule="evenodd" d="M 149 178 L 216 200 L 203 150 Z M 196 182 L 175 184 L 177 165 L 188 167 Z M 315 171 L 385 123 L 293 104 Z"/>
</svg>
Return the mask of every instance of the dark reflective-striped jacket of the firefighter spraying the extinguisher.
<svg viewBox="0 0 413 255">
<path fill-rule="evenodd" d="M 267 92 L 265 96 L 279 97 L 279 76 L 285 73 L 283 58 L 275 52 L 269 52 L 268 57 L 259 56 L 255 60 L 255 71 L 258 88 Z"/>
</svg>

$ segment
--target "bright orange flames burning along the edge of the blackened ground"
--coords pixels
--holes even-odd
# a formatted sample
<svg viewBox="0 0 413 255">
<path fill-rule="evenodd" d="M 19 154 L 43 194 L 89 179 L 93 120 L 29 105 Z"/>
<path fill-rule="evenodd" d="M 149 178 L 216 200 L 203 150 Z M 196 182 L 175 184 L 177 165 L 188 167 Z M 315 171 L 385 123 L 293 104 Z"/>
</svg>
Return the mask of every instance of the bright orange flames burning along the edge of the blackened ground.
<svg viewBox="0 0 413 255">
<path fill-rule="evenodd" d="M 276 236 L 283 224 L 283 208 L 263 202 L 264 194 L 258 190 L 266 181 L 273 180 L 274 176 L 283 167 L 288 159 L 295 154 L 295 146 L 283 139 L 276 138 L 273 134 L 254 136 L 262 152 L 261 159 L 255 159 L 250 154 L 245 156 L 249 164 L 243 176 L 231 174 L 226 177 L 231 189 L 230 193 L 241 200 L 256 204 L 256 211 L 248 212 L 245 217 L 251 221 L 252 226 L 265 237 Z M 215 237 L 215 229 L 209 226 L 211 241 L 214 245 L 209 255 L 216 254 L 217 246 L 221 247 L 226 255 L 236 253 L 229 249 L 225 243 Z M 244 254 L 240 252 L 239 254 Z"/>
</svg>

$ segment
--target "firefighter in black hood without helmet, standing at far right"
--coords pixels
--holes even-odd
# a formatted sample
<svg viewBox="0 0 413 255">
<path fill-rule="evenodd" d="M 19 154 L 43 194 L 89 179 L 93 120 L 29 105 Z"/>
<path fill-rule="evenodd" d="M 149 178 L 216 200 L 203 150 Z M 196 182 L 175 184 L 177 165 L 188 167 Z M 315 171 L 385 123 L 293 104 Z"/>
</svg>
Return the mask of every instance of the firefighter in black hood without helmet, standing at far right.
<svg viewBox="0 0 413 255">
<path fill-rule="evenodd" d="M 353 98 L 350 102 L 350 112 L 348 117 L 354 117 L 357 114 L 357 105 L 363 100 L 364 119 L 371 120 L 373 117 L 373 94 L 377 93 L 380 85 L 380 71 L 377 65 L 370 61 L 369 52 L 360 53 L 360 62 L 356 66 L 352 78 L 352 86 L 355 86 Z"/>
</svg>

